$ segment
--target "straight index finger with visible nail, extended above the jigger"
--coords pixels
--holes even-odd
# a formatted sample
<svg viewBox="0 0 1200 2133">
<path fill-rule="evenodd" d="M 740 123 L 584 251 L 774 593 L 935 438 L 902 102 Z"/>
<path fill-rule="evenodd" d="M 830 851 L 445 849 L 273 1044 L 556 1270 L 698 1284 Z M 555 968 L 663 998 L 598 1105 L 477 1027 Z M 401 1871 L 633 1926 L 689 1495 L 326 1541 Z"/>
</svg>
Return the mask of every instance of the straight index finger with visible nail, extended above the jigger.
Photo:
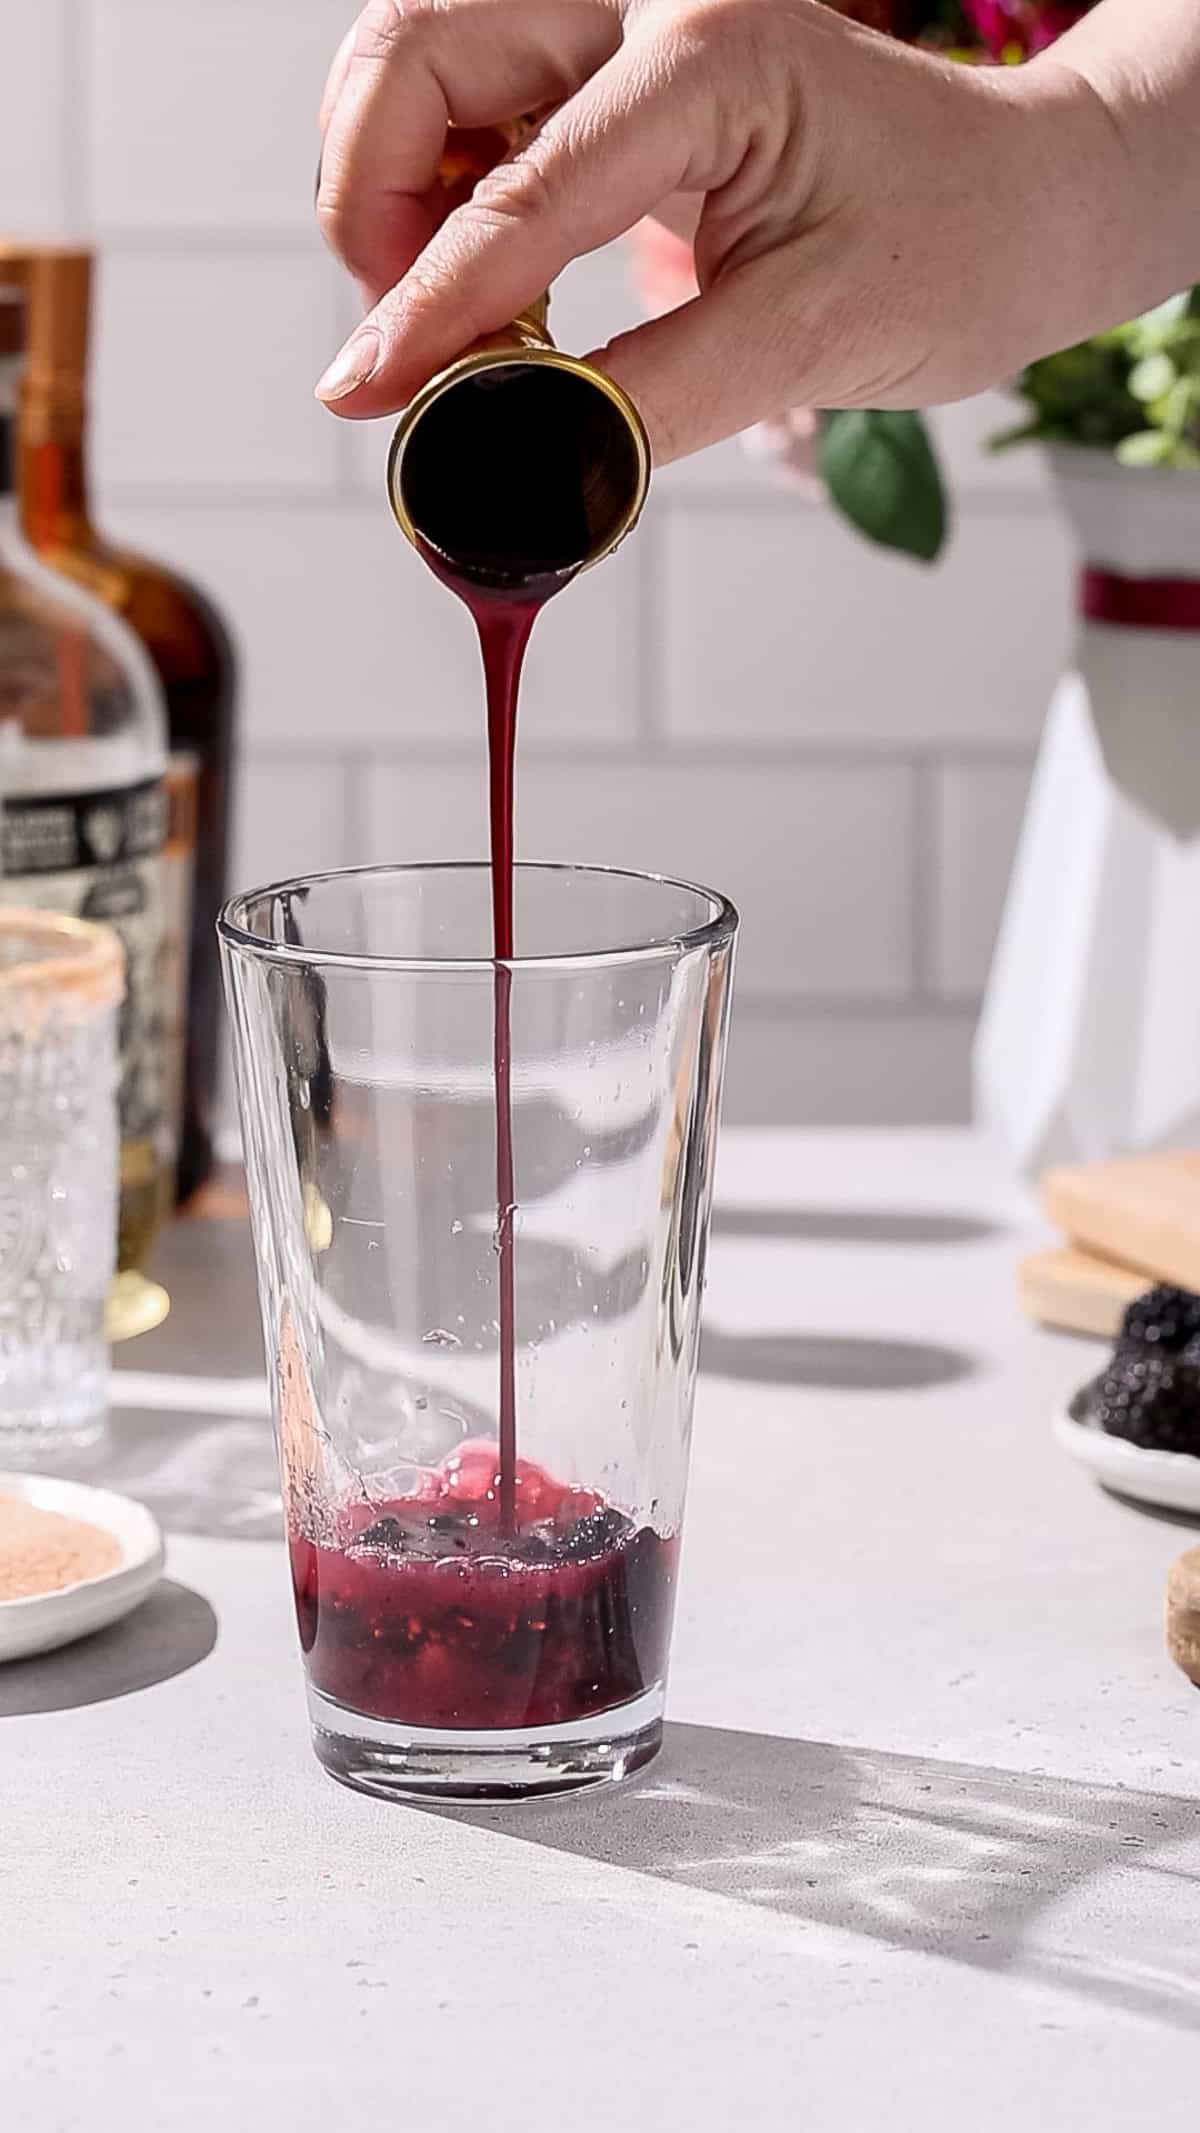
<svg viewBox="0 0 1200 2133">
<path fill-rule="evenodd" d="M 695 115 L 646 87 L 625 45 L 454 209 L 318 384 L 345 416 L 379 416 L 480 335 L 535 303 L 573 258 L 622 237 L 688 183 Z M 695 175 L 691 183 L 701 179 Z"/>
</svg>

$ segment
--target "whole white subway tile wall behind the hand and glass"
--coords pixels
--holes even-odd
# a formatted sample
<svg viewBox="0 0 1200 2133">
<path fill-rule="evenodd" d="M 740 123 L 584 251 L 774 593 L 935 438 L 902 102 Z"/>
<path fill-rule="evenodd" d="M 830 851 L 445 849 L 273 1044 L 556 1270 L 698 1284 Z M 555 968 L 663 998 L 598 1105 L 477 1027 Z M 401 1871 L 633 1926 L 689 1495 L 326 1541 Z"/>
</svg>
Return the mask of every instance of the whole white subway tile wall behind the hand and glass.
<svg viewBox="0 0 1200 2133">
<path fill-rule="evenodd" d="M 243 651 L 234 885 L 486 849 L 467 614 L 390 520 L 392 422 L 313 382 L 356 318 L 315 235 L 318 100 L 358 0 L 0 0 L 6 228 L 92 228 L 96 491 Z M 558 346 L 635 324 L 625 243 Z M 923 572 L 729 442 L 541 616 L 518 845 L 708 879 L 742 907 L 727 1116 L 961 1120 L 1070 548 L 1019 407 L 931 418 L 957 527 Z M 917 851 L 917 838 L 921 849 Z"/>
</svg>

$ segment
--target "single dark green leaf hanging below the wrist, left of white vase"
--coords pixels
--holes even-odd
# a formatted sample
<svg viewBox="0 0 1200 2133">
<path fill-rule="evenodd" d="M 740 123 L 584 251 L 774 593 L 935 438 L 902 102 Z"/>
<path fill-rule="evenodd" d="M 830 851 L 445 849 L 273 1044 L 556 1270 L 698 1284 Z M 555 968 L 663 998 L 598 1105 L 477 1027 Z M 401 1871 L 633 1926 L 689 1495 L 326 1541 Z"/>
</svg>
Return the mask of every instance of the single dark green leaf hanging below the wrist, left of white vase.
<svg viewBox="0 0 1200 2133">
<path fill-rule="evenodd" d="M 931 563 L 946 542 L 946 488 L 919 414 L 850 407 L 821 427 L 821 474 L 838 510 L 882 548 Z"/>
</svg>

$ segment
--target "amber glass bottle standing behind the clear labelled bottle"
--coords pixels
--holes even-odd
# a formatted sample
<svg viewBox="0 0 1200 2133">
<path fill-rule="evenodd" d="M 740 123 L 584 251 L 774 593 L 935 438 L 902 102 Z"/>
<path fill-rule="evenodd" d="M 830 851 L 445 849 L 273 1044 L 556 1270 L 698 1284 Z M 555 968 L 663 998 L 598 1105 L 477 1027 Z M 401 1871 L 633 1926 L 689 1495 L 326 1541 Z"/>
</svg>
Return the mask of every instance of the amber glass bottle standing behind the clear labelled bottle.
<svg viewBox="0 0 1200 2133">
<path fill-rule="evenodd" d="M 168 744 L 196 764 L 196 860 L 188 956 L 183 1116 L 177 1199 L 213 1167 L 220 1058 L 215 919 L 226 892 L 234 655 L 211 602 L 177 572 L 104 540 L 87 508 L 87 322 L 92 254 L 0 245 L 0 273 L 26 286 L 30 358 L 19 418 L 26 540 L 141 638 L 166 697 Z"/>
</svg>

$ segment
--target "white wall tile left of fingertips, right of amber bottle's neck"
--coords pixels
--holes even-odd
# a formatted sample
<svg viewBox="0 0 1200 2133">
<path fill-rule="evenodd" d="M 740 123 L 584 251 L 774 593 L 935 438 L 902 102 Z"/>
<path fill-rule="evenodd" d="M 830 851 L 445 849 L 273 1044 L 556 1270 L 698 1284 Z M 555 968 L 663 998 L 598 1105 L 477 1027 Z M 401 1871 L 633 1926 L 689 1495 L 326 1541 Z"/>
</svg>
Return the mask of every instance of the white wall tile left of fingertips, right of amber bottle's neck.
<svg viewBox="0 0 1200 2133">
<path fill-rule="evenodd" d="M 333 264 L 296 252 L 109 252 L 96 318 L 96 476 L 107 491 L 328 491 L 341 469 L 313 384 L 335 346 Z"/>
</svg>

